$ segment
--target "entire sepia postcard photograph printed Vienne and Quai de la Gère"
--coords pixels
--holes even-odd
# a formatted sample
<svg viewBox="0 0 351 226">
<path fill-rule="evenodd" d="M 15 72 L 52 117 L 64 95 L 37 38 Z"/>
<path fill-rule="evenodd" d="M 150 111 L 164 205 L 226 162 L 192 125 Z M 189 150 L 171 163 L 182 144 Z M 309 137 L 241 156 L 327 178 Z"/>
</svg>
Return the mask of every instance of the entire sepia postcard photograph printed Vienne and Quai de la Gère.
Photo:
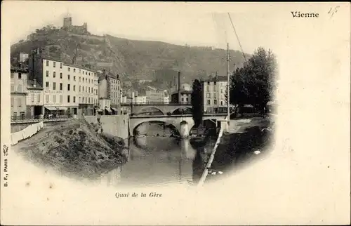
<svg viewBox="0 0 351 226">
<path fill-rule="evenodd" d="M 322 43 L 344 41 L 350 52 L 350 27 L 349 34 L 332 36 L 350 25 L 346 21 L 350 20 L 350 4 L 4 1 L 2 6 L 1 47 L 6 51 L 1 51 L 1 65 L 7 66 L 1 67 L 1 134 L 6 134 L 1 135 L 1 225 L 337 223 L 334 220 L 338 213 L 330 213 L 333 217 L 325 222 L 322 215 L 308 216 L 307 212 L 298 219 L 283 220 L 284 215 L 290 219 L 295 213 L 277 206 L 274 208 L 282 213 L 273 211 L 270 214 L 276 213 L 277 217 L 269 220 L 267 216 L 255 218 L 253 213 L 245 213 L 242 219 L 239 215 L 224 217 L 230 214 L 226 199 L 237 199 L 235 205 L 241 206 L 239 212 L 243 213 L 249 204 L 241 203 L 249 199 L 256 205 L 251 210 L 260 215 L 265 211 L 257 206 L 268 200 L 274 204 L 282 200 L 275 204 L 278 206 L 297 205 L 289 201 L 295 195 L 289 191 L 298 192 L 300 188 L 287 183 L 311 186 L 307 191 L 312 191 L 312 187 L 322 185 L 317 181 L 326 182 L 326 178 L 319 178 L 322 174 L 329 177 L 317 171 L 312 161 L 318 162 L 316 167 L 324 162 L 325 171 L 335 164 L 343 167 L 344 174 L 338 174 L 343 184 L 338 185 L 345 189 L 340 197 L 348 198 L 350 218 L 350 178 L 345 179 L 350 176 L 350 130 L 343 129 L 330 140 L 323 140 L 324 133 L 338 130 L 347 120 L 350 124 L 350 97 L 343 95 L 350 94 L 350 53 L 345 48 L 341 51 L 341 44 L 331 45 L 335 51 L 331 62 L 338 62 L 331 67 L 346 73 L 343 81 L 337 80 L 345 85 L 339 89 L 340 96 L 334 96 L 334 100 L 343 102 L 343 108 L 338 111 L 336 104 L 315 94 L 317 90 L 325 91 L 323 95 L 334 91 L 332 85 L 322 83 L 324 72 L 340 73 L 326 69 L 329 67 L 321 55 L 331 48 L 323 48 Z M 334 20 L 344 24 L 333 26 L 331 36 L 324 36 L 323 23 Z M 298 26 L 300 32 L 296 32 Z M 316 39 L 310 36 L 303 41 L 298 34 L 313 31 L 321 41 L 308 47 Z M 342 57 L 343 62 L 335 60 Z M 319 69 L 307 69 L 306 61 L 312 67 L 319 64 Z M 322 76 L 319 81 L 317 74 Z M 305 89 L 307 81 L 310 87 Z M 305 95 L 307 92 L 311 94 Z M 322 99 L 327 106 L 323 107 Z M 336 114 L 334 119 L 324 117 L 331 111 Z M 338 124 L 341 119 L 343 123 Z M 343 140 L 338 142 L 339 148 L 332 149 L 345 150 L 343 157 L 340 152 L 342 164 L 321 151 L 324 147 L 326 152 L 331 151 L 327 147 L 336 137 Z M 348 151 L 343 146 L 347 139 Z M 317 140 L 319 145 L 313 145 Z M 296 154 L 302 149 L 307 153 Z M 317 149 L 319 154 L 312 154 Z M 303 161 L 296 160 L 299 157 Z M 333 163 L 327 164 L 325 159 Z M 289 164 L 293 168 L 288 169 Z M 310 169 L 305 171 L 305 166 Z M 305 173 L 296 173 L 300 171 Z M 312 172 L 320 175 L 310 176 Z M 335 175 L 330 177 L 335 179 Z M 309 180 L 315 183 L 308 185 Z M 328 184 L 336 186 L 334 182 Z M 45 189 L 34 189 L 41 184 Z M 28 193 L 29 189 L 42 195 L 42 201 Z M 248 194 L 241 193 L 245 190 Z M 257 196 L 260 193 L 265 201 L 249 195 L 249 190 Z M 274 196 L 269 198 L 267 190 Z M 200 191 L 208 193 L 200 196 Z M 79 198 L 75 200 L 72 192 Z M 208 200 L 213 192 L 216 196 L 223 194 L 213 197 L 214 205 L 226 210 L 223 215 L 217 210 L 212 220 L 221 220 L 195 220 L 196 215 L 211 215 Z M 204 206 L 204 212 L 194 211 L 194 201 L 182 198 L 186 200 L 184 205 L 189 202 L 193 206 L 186 209 L 194 213 L 188 212 L 188 221 L 177 221 L 170 211 L 179 208 L 178 215 L 184 213 L 180 199 L 176 205 L 173 202 L 186 195 L 201 199 L 199 205 Z M 307 193 L 296 195 L 304 199 Z M 37 201 L 29 201 L 34 197 Z M 93 211 L 95 204 L 103 206 L 107 202 L 119 206 L 119 211 L 120 205 L 128 206 L 128 202 L 130 207 L 124 206 L 125 213 L 119 212 L 116 217 L 112 208 Z M 49 203 L 50 208 L 39 208 Z M 67 209 L 59 213 L 65 204 Z M 141 216 L 130 219 L 135 218 L 132 208 L 141 211 L 150 205 L 157 211 L 167 208 L 168 212 L 158 218 L 156 215 L 161 213 L 146 211 L 142 215 L 145 219 L 148 215 L 148 220 L 141 220 Z M 84 208 L 85 214 L 94 212 L 96 217 L 82 220 L 80 213 L 74 217 L 71 207 L 74 211 Z M 20 211 L 16 213 L 15 208 Z M 29 220 L 31 214 L 21 212 L 26 208 L 34 215 L 40 209 L 42 219 Z M 339 222 L 347 223 L 347 208 L 343 209 Z M 24 218 L 16 220 L 21 215 Z M 129 217 L 121 220 L 120 215 Z"/>
</svg>

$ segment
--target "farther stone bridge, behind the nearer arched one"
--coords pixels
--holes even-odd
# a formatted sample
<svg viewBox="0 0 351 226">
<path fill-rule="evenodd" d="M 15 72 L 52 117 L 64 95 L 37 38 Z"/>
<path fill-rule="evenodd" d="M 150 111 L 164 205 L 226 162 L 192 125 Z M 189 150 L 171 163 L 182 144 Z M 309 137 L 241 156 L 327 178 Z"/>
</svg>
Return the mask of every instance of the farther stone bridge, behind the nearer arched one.
<svg viewBox="0 0 351 226">
<path fill-rule="evenodd" d="M 159 113 L 160 115 L 167 115 L 168 112 L 173 114 L 177 109 L 187 108 L 192 109 L 192 105 L 182 105 L 178 103 L 169 103 L 169 104 L 121 104 L 121 107 L 127 107 L 131 109 L 131 114 L 138 115 L 143 113 Z"/>
</svg>

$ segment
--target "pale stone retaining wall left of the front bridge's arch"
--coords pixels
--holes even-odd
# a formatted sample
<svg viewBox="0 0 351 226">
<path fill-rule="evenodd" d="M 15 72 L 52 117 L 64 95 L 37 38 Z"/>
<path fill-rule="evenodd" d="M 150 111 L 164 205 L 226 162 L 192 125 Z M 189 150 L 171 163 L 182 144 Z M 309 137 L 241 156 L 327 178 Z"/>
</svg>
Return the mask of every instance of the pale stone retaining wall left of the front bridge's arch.
<svg viewBox="0 0 351 226">
<path fill-rule="evenodd" d="M 101 115 L 100 122 L 102 124 L 103 133 L 117 136 L 122 139 L 129 138 L 129 115 Z M 89 124 L 98 124 L 97 116 L 84 117 Z"/>
</svg>

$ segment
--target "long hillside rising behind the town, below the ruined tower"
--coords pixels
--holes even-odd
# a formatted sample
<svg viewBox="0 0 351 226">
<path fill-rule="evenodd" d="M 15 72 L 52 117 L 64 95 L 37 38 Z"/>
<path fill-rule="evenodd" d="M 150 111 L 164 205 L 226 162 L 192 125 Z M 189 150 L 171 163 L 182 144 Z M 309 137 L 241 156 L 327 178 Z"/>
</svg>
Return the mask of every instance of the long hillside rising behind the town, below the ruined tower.
<svg viewBox="0 0 351 226">
<path fill-rule="evenodd" d="M 174 80 L 178 70 L 185 77 L 184 82 L 190 82 L 210 73 L 225 74 L 227 68 L 223 49 L 135 41 L 110 35 L 79 35 L 62 29 L 37 29 L 33 34 L 30 40 L 11 46 L 11 56 L 44 47 L 46 54 L 71 62 L 77 49 L 78 63 L 89 63 L 95 69 L 110 68 L 124 79 L 143 78 L 166 83 Z M 239 51 L 230 51 L 230 54 L 232 64 L 242 65 L 244 59 Z"/>
</svg>

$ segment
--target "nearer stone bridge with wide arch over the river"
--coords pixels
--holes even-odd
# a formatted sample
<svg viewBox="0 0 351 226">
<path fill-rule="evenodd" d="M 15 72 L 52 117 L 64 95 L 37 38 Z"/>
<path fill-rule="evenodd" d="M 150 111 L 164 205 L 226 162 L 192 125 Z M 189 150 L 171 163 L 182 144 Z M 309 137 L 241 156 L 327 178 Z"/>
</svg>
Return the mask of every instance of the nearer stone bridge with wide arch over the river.
<svg viewBox="0 0 351 226">
<path fill-rule="evenodd" d="M 211 120 L 216 123 L 217 120 L 226 119 L 227 114 L 205 114 L 202 118 L 203 121 Z M 133 116 L 129 121 L 129 131 L 131 135 L 135 135 L 135 129 L 145 122 L 164 122 L 165 124 L 171 124 L 174 126 L 181 138 L 187 138 L 190 130 L 194 126 L 194 120 L 191 114 L 184 115 L 154 115 L 154 116 Z"/>
</svg>

